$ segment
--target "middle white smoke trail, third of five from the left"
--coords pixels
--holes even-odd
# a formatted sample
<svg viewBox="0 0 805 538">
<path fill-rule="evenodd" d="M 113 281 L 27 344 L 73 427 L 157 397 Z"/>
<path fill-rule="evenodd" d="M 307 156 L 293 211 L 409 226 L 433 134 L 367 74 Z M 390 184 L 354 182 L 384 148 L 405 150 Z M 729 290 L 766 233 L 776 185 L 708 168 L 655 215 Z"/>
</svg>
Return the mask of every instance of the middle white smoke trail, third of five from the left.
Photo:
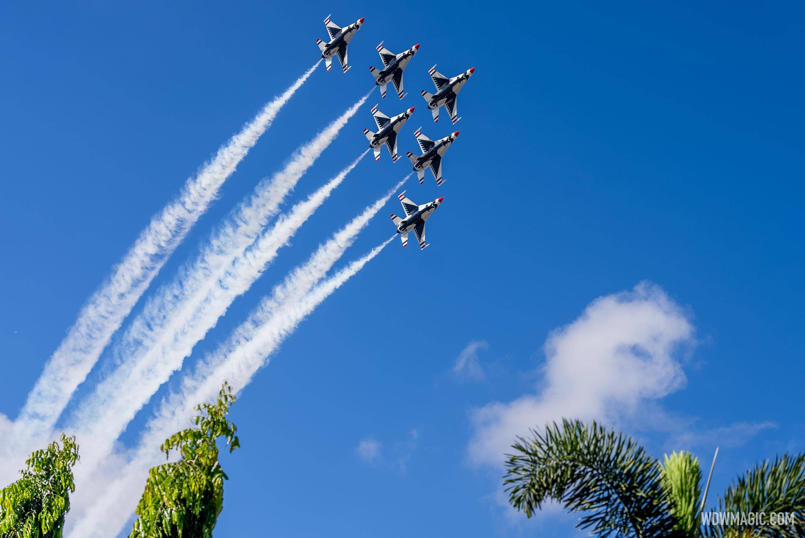
<svg viewBox="0 0 805 538">
<path fill-rule="evenodd" d="M 184 358 L 191 354 L 196 343 L 225 315 L 233 300 L 246 292 L 262 275 L 267 265 L 275 259 L 279 248 L 287 244 L 288 239 L 327 200 L 368 152 L 369 150 L 364 151 L 307 200 L 283 213 L 274 226 L 266 230 L 243 255 L 234 259 L 222 275 L 212 280 L 212 288 L 195 311 L 187 312 L 186 317 L 171 314 L 171 324 L 166 327 L 169 330 L 163 332 L 150 349 L 122 363 L 99 384 L 93 395 L 76 412 L 76 435 L 92 440 L 82 454 L 84 465 L 81 470 L 76 469 L 76 482 L 85 478 L 97 463 L 112 452 L 114 441 L 126 428 L 126 424 L 171 374 L 180 369 Z M 175 309 L 181 310 L 183 314 L 187 310 Z"/>
</svg>

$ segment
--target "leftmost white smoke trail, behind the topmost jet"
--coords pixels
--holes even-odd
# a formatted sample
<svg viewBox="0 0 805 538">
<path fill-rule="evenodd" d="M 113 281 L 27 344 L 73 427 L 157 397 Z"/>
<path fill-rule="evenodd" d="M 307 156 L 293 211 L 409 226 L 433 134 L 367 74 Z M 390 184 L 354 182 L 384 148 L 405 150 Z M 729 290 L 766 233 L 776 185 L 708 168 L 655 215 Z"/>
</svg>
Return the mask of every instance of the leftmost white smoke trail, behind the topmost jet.
<svg viewBox="0 0 805 538">
<path fill-rule="evenodd" d="M 195 178 L 188 179 L 179 197 L 151 218 L 151 223 L 142 230 L 121 263 L 81 308 L 67 337 L 46 363 L 14 424 L 17 444 L 24 447 L 31 440 L 47 435 L 56 424 L 72 393 L 86 379 L 109 339 L 151 280 L 215 200 L 219 188 L 232 175 L 237 164 L 257 143 L 283 105 L 308 80 L 320 61 L 282 95 L 266 104 L 240 133 L 218 150 L 215 158 L 205 164 Z"/>
</svg>

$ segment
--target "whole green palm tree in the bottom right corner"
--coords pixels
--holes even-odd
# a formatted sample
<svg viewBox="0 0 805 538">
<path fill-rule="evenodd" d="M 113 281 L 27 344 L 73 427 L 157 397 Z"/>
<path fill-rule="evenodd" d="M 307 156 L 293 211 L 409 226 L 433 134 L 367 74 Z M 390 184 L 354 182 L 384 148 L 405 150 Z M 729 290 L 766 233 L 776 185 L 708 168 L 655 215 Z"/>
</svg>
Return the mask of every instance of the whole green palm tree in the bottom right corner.
<svg viewBox="0 0 805 538">
<path fill-rule="evenodd" d="M 506 461 L 511 505 L 531 517 L 547 500 L 583 512 L 594 536 L 805 536 L 805 454 L 763 463 L 719 498 L 722 512 L 789 512 L 793 524 L 701 525 L 701 468 L 691 453 L 663 462 L 624 434 L 593 422 L 563 420 L 518 437 Z"/>
</svg>

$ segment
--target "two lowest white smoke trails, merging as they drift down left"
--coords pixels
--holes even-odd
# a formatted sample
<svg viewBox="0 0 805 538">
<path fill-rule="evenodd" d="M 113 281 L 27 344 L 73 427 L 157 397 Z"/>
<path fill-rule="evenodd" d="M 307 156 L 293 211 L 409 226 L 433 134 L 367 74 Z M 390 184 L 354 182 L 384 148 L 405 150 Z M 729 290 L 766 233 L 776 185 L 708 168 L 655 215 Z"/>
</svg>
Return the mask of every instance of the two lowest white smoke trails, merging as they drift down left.
<svg viewBox="0 0 805 538">
<path fill-rule="evenodd" d="M 129 465 L 105 489 L 103 495 L 97 496 L 97 502 L 85 512 L 76 528 L 70 532 L 69 538 L 114 536 L 120 532 L 132 507 L 137 503 L 148 469 L 161 461 L 155 447 L 172 432 L 186 426 L 192 415 L 192 404 L 208 399 L 208 394 L 215 393 L 223 379 L 227 379 L 236 391 L 242 391 L 284 338 L 293 333 L 305 317 L 394 239 L 392 236 L 382 242 L 367 255 L 353 261 L 313 288 L 321 278 L 317 278 L 317 275 L 326 274 L 338 259 L 336 253 L 343 253 L 352 243 L 349 234 L 353 234 L 354 238 L 371 218 L 361 217 L 377 213 L 394 190 L 381 199 L 382 203 L 378 201 L 369 206 L 364 213 L 320 246 L 307 263 L 287 275 L 283 283 L 275 287 L 272 295 L 264 299 L 249 319 L 233 333 L 233 337 L 216 353 L 205 358 L 204 366 L 196 370 L 192 379 L 185 380 L 180 394 L 171 396 L 159 408 L 159 412 L 155 413 L 147 424 Z M 237 352 L 231 353 L 232 350 Z"/>
</svg>

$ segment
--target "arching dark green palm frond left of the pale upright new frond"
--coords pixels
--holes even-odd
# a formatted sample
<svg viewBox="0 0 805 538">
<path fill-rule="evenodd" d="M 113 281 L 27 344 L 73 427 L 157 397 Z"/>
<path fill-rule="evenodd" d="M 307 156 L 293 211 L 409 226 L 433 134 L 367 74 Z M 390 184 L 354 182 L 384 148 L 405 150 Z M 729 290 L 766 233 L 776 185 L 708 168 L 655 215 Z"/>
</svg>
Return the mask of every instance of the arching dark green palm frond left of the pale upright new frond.
<svg viewBox="0 0 805 538">
<path fill-rule="evenodd" d="M 531 517 L 555 499 L 585 512 L 576 526 L 597 536 L 679 536 L 658 461 L 630 437 L 579 420 L 531 433 L 506 462 L 512 506 Z"/>
</svg>

